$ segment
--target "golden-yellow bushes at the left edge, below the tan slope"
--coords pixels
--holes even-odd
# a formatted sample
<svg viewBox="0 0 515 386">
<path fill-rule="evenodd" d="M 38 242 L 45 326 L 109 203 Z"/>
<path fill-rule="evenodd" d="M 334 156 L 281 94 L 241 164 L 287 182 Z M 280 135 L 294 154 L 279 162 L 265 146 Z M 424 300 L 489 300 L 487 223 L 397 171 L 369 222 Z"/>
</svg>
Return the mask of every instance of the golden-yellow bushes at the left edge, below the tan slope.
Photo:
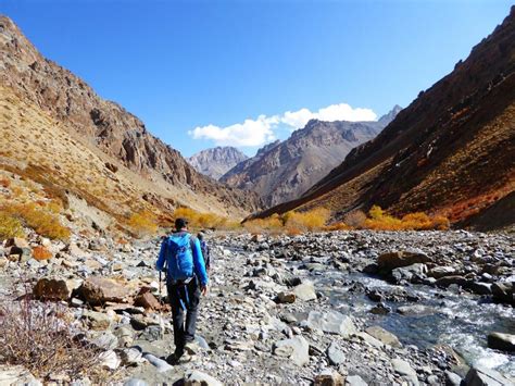
<svg viewBox="0 0 515 386">
<path fill-rule="evenodd" d="M 34 202 L 12 203 L 3 207 L 1 211 L 23 221 L 41 236 L 53 239 L 67 239 L 70 237 L 70 229 L 60 223 L 54 213 L 49 212 L 46 208 L 38 208 Z"/>
</svg>

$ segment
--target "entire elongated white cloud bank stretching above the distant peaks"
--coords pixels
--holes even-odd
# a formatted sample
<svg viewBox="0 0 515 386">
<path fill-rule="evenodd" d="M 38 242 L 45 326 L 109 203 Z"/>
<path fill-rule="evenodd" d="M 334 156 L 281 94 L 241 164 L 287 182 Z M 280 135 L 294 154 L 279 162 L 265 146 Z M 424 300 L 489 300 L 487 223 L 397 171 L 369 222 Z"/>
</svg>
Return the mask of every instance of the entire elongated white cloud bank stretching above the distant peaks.
<svg viewBox="0 0 515 386">
<path fill-rule="evenodd" d="M 376 121 L 377 115 L 370 109 L 353 109 L 347 103 L 331 104 L 316 112 L 309 109 L 287 111 L 282 115 L 260 115 L 256 120 L 246 120 L 230 126 L 208 125 L 196 127 L 188 134 L 193 139 L 210 139 L 218 146 L 258 147 L 276 139 L 274 130 L 287 126 L 291 132 L 302 128 L 310 120 L 321 121 Z"/>
</svg>

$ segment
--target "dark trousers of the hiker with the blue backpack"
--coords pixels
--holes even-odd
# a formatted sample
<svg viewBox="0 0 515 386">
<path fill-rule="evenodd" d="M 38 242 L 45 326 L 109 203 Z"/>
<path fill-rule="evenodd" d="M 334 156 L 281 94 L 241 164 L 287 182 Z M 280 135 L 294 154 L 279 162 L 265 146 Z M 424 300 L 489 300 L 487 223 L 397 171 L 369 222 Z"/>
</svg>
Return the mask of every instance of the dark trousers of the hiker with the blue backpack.
<svg viewBox="0 0 515 386">
<path fill-rule="evenodd" d="M 200 288 L 197 282 L 197 278 L 193 277 L 188 284 L 167 284 L 174 322 L 175 352 L 177 354 L 183 354 L 185 345 L 194 340 L 197 312 L 200 302 Z"/>
</svg>

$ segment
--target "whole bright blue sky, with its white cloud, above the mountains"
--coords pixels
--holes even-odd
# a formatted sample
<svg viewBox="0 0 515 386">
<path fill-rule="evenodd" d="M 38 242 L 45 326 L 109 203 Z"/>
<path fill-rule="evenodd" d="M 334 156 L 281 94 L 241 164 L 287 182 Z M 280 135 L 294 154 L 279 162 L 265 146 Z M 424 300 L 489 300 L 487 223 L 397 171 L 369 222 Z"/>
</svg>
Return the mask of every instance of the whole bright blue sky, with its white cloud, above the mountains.
<svg viewBox="0 0 515 386">
<path fill-rule="evenodd" d="M 217 144 L 251 154 L 310 117 L 374 119 L 395 103 L 406 107 L 465 59 L 510 5 L 0 0 L 0 13 L 47 58 L 190 155 Z"/>
</svg>

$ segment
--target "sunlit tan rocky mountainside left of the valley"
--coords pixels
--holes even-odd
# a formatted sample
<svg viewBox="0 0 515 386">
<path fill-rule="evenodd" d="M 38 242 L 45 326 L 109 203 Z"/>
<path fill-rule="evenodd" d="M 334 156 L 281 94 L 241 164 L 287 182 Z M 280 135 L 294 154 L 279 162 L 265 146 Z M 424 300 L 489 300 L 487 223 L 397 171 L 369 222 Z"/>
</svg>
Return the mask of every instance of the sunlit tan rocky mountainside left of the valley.
<svg viewBox="0 0 515 386">
<path fill-rule="evenodd" d="M 256 196 L 201 175 L 138 117 L 45 59 L 5 16 L 0 87 L 2 169 L 56 185 L 114 215 L 145 206 L 238 216 L 259 208 Z"/>
</svg>

